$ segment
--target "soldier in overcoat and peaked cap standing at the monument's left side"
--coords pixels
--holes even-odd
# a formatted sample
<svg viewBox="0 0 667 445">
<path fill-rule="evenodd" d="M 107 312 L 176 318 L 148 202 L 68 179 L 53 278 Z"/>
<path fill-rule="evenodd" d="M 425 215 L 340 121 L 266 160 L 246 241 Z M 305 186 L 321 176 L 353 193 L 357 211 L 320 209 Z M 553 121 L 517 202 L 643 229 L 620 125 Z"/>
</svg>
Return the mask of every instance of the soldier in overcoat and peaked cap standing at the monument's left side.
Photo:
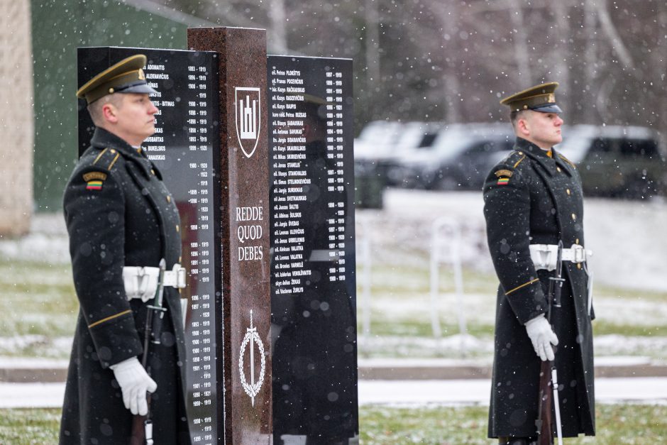
<svg viewBox="0 0 667 445">
<path fill-rule="evenodd" d="M 97 127 L 75 166 L 63 205 L 79 317 L 67 374 L 61 444 L 129 444 L 134 414 L 148 411 L 156 444 L 189 444 L 180 288 L 180 219 L 160 171 L 140 145 L 155 132 L 157 108 L 134 55 L 77 92 Z M 140 363 L 148 305 L 163 305 L 160 344 Z"/>
</svg>

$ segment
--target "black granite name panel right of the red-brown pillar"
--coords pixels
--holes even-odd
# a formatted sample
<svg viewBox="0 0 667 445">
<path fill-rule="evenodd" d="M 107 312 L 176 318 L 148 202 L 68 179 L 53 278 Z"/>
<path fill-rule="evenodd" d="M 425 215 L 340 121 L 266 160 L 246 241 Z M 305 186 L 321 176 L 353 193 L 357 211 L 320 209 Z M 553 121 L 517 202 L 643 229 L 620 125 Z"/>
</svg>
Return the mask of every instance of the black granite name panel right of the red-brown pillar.
<svg viewBox="0 0 667 445">
<path fill-rule="evenodd" d="M 358 435 L 352 61 L 268 57 L 274 443 Z"/>
</svg>

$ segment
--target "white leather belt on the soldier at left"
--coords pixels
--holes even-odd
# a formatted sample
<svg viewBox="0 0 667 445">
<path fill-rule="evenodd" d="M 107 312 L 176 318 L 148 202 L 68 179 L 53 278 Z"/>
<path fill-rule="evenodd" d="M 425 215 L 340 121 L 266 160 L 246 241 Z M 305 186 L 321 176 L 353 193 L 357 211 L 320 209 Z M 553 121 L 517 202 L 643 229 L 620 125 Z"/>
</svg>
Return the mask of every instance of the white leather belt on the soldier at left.
<svg viewBox="0 0 667 445">
<path fill-rule="evenodd" d="M 140 298 L 147 302 L 155 297 L 158 290 L 160 268 L 125 266 L 123 268 L 123 283 L 128 300 Z M 185 287 L 185 268 L 176 263 L 172 270 L 165 270 L 164 285 L 182 289 Z"/>
</svg>

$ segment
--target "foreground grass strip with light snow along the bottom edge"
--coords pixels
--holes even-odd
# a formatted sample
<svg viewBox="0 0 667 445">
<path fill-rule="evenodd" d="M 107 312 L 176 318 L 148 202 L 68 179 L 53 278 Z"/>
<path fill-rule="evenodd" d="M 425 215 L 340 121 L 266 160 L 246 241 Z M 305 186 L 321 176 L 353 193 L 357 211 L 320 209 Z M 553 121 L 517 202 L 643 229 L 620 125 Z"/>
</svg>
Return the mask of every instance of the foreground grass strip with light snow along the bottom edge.
<svg viewBox="0 0 667 445">
<path fill-rule="evenodd" d="M 0 410 L 0 444 L 56 444 L 59 409 Z M 359 410 L 360 444 L 494 444 L 485 439 L 487 407 L 364 405 Z M 667 406 L 598 405 L 597 436 L 566 444 L 666 444 Z"/>
</svg>

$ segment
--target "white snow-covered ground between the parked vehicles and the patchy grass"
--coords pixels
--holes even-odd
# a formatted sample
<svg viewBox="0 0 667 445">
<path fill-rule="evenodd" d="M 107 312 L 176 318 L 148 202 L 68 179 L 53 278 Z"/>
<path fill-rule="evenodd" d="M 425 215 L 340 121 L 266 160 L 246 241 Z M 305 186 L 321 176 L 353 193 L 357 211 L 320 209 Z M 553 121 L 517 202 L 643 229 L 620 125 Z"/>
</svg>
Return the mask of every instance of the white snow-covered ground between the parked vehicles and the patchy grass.
<svg viewBox="0 0 667 445">
<path fill-rule="evenodd" d="M 424 192 L 387 189 L 382 210 L 360 210 L 358 245 L 364 237 L 382 253 L 394 243 L 427 251 L 431 224 L 438 218 L 457 221 L 462 231 L 463 260 L 492 270 L 486 246 L 481 192 Z M 590 266 L 596 282 L 644 290 L 667 290 L 667 202 L 586 199 L 585 246 L 593 251 Z M 375 251 L 374 251 L 375 252 Z M 400 263 L 406 258 L 396 258 Z"/>
</svg>

